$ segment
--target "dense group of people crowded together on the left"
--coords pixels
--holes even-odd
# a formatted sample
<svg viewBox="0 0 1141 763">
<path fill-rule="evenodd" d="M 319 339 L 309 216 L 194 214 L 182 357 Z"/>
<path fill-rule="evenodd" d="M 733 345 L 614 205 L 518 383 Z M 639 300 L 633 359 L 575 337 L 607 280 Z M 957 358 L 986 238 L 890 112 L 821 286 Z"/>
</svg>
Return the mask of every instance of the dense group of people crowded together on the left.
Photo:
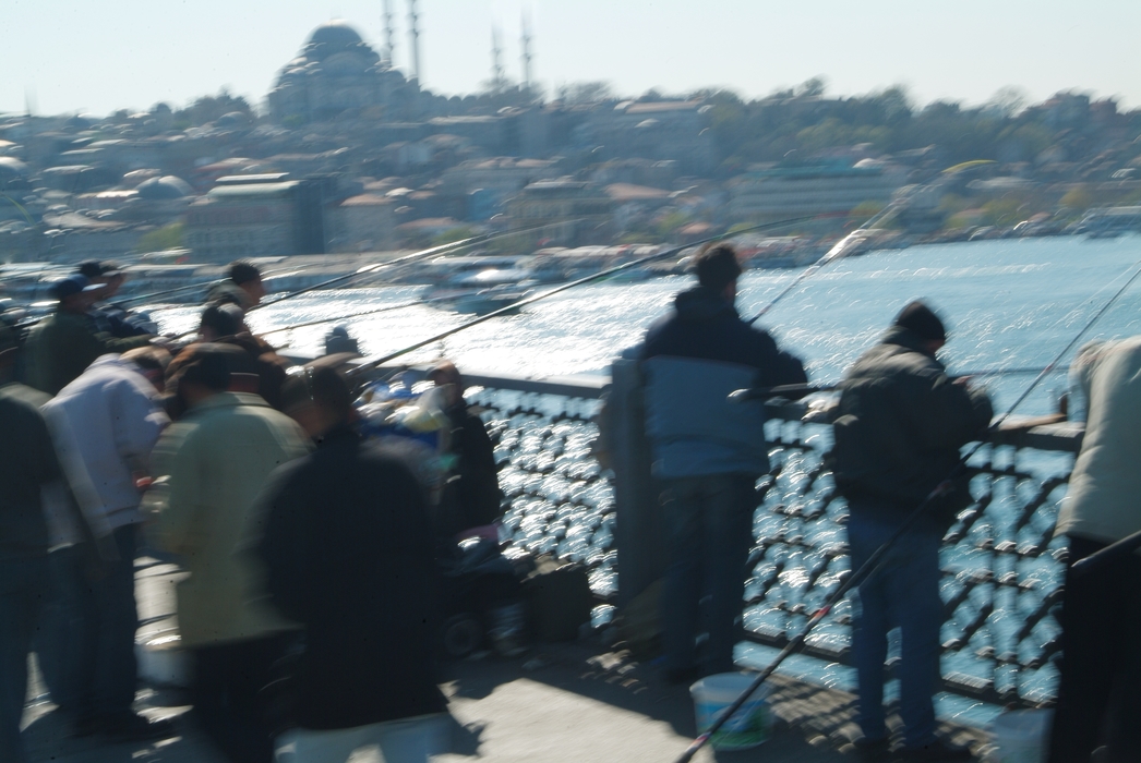
<svg viewBox="0 0 1141 763">
<path fill-rule="evenodd" d="M 72 736 L 177 732 L 135 709 L 144 546 L 186 573 L 193 716 L 226 760 L 347 760 L 378 744 L 423 761 L 444 744 L 434 560 L 442 531 L 499 517 L 486 430 L 439 365 L 456 448 L 442 523 L 407 453 L 355 425 L 355 354 L 286 373 L 245 325 L 260 274 L 229 275 L 184 347 L 108 307 L 122 275 L 100 263 L 56 284 L 56 311 L 22 348 L 0 324 L 2 761 L 24 760 L 33 650 Z"/>
</svg>

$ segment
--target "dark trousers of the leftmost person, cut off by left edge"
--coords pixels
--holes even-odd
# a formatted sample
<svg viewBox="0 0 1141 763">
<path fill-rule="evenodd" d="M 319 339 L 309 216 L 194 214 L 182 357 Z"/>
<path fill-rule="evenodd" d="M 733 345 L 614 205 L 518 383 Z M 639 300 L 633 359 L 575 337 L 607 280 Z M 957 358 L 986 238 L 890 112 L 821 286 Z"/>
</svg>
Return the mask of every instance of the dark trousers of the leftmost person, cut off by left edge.
<svg viewBox="0 0 1141 763">
<path fill-rule="evenodd" d="M 27 652 L 48 591 L 47 554 L 0 560 L 0 761 L 21 763 Z"/>
</svg>

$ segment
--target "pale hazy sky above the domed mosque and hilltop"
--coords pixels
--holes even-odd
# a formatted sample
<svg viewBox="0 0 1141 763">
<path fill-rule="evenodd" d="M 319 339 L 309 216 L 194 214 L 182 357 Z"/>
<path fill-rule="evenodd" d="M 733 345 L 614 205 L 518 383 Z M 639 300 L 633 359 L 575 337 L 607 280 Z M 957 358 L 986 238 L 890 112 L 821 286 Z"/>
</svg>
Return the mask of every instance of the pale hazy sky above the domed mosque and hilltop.
<svg viewBox="0 0 1141 763">
<path fill-rule="evenodd" d="M 408 62 L 407 2 L 396 64 Z M 227 87 L 260 103 L 309 32 L 332 18 L 379 50 L 382 0 L 0 0 L 0 111 L 107 113 L 184 105 Z M 519 19 L 552 91 L 608 80 L 621 94 L 722 86 L 746 97 L 823 75 L 833 94 L 906 84 L 925 103 L 1031 100 L 1079 88 L 1141 106 L 1141 0 L 421 0 L 422 82 L 478 89 L 491 29 L 518 79 Z"/>
</svg>

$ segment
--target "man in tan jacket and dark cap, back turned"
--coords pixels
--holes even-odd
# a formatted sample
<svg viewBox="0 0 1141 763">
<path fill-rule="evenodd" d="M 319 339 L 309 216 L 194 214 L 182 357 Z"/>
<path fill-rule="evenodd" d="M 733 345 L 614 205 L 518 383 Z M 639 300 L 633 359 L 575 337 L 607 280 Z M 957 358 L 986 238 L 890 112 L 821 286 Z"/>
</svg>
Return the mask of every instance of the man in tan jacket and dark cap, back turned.
<svg viewBox="0 0 1141 763">
<path fill-rule="evenodd" d="M 178 382 L 186 415 L 155 448 L 161 545 L 188 573 L 178 625 L 194 660 L 192 699 L 211 741 L 234 763 L 268 763 L 270 729 L 258 692 L 296 626 L 265 601 L 254 498 L 269 473 L 307 452 L 305 432 L 257 395 L 227 391 L 244 354 L 199 344 Z"/>
</svg>

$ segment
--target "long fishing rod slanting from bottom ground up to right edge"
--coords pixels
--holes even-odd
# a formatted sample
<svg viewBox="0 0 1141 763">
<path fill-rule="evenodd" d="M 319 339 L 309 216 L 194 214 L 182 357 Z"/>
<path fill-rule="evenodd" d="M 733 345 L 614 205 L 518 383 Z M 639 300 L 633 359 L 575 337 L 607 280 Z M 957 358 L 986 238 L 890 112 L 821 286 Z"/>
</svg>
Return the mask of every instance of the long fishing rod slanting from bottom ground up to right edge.
<svg viewBox="0 0 1141 763">
<path fill-rule="evenodd" d="M 1005 413 L 1003 413 L 1001 416 L 998 416 L 998 419 L 996 419 L 990 423 L 990 425 L 987 428 L 988 432 L 996 431 L 1000 427 L 1002 427 L 1003 423 L 1006 422 L 1008 419 L 1010 419 L 1010 416 L 1014 413 L 1014 411 L 1022 403 L 1026 401 L 1026 399 L 1030 396 L 1034 389 L 1039 383 L 1042 383 L 1042 380 L 1044 380 L 1046 376 L 1050 375 L 1053 368 L 1059 363 L 1061 363 L 1062 358 L 1065 358 L 1066 355 L 1071 349 L 1074 349 L 1074 347 L 1082 340 L 1082 338 L 1085 336 L 1085 334 L 1091 328 L 1093 328 L 1093 325 L 1098 323 L 1099 319 L 1101 319 L 1101 316 L 1103 316 L 1106 311 L 1109 310 L 1110 307 L 1112 307 L 1112 305 L 1117 301 L 1117 299 L 1125 293 L 1125 290 L 1127 290 L 1133 284 L 1133 282 L 1136 281 L 1138 276 L 1141 276 L 1141 263 L 1138 263 L 1136 270 L 1134 270 L 1133 275 L 1130 276 L 1128 281 L 1125 282 L 1125 285 L 1123 285 L 1119 290 L 1117 290 L 1117 292 L 1111 298 L 1109 298 L 1109 300 L 1101 307 L 1101 309 L 1099 309 L 1093 315 L 1093 317 L 1091 317 L 1090 320 L 1086 322 L 1086 324 L 1074 336 L 1074 339 L 1071 339 L 1069 343 L 1067 343 L 1066 347 L 1063 347 L 1062 350 L 1054 356 L 1054 359 L 1051 360 L 1051 363 L 1046 367 L 1044 367 L 1038 373 L 1037 376 L 1034 378 L 1034 381 L 1031 381 L 1030 384 L 1018 397 L 1018 399 L 1014 400 L 1014 404 L 1011 405 L 1009 408 L 1006 408 Z M 819 623 L 828 615 L 828 612 L 832 611 L 832 608 L 837 602 L 840 602 L 840 600 L 843 599 L 843 596 L 851 589 L 859 585 L 864 581 L 868 579 L 873 575 L 875 575 L 875 573 L 880 569 L 880 566 L 883 563 L 884 557 L 887 557 L 888 552 L 899 542 L 901 537 L 904 537 L 904 535 L 908 533 L 908 530 L 912 529 L 912 527 L 914 527 L 920 521 L 920 519 L 923 518 L 923 516 L 926 513 L 932 502 L 945 496 L 952 489 L 954 480 L 958 479 L 966 471 L 966 463 L 971 460 L 972 456 L 974 456 L 976 453 L 979 452 L 979 449 L 985 444 L 986 444 L 985 438 L 978 440 L 966 452 L 966 455 L 960 457 L 958 463 L 955 465 L 955 469 L 953 469 L 952 472 L 947 474 L 947 479 L 945 479 L 942 482 L 936 486 L 936 488 L 931 490 L 931 493 L 928 494 L 925 498 L 923 498 L 920 505 L 916 506 L 915 510 L 907 516 L 907 519 L 905 519 L 904 522 L 896 529 L 896 531 L 891 534 L 891 537 L 889 537 L 883 543 L 883 545 L 876 549 L 875 552 L 871 557 L 868 557 L 867 561 L 865 561 L 859 567 L 859 569 L 855 570 L 853 573 L 851 573 L 851 575 L 848 575 L 841 581 L 836 590 L 833 591 L 827 596 L 827 599 L 824 600 L 824 603 L 820 606 L 820 608 L 817 609 L 812 614 L 812 616 L 808 619 L 808 623 L 804 624 L 804 627 L 801 628 L 800 633 L 798 633 L 796 636 L 792 639 L 792 641 L 785 644 L 785 648 L 782 649 L 780 652 L 776 656 L 776 658 L 774 658 L 774 660 L 769 663 L 769 665 L 758 674 L 756 679 L 753 680 L 753 682 L 748 685 L 748 688 L 745 689 L 745 691 L 743 691 L 737 697 L 737 699 L 735 699 L 733 704 L 729 705 L 729 707 L 727 707 L 717 717 L 717 720 L 713 722 L 710 729 L 705 733 L 698 736 L 693 742 L 690 742 L 689 747 L 686 748 L 686 752 L 682 753 L 681 756 L 677 758 L 677 763 L 688 763 L 689 761 L 691 761 L 694 755 L 696 755 L 697 752 L 705 746 L 705 744 L 710 740 L 710 738 L 714 733 L 717 733 L 722 725 L 725 725 L 726 721 L 733 717 L 733 714 L 736 713 L 738 709 L 741 709 L 742 705 L 748 701 L 748 698 L 752 697 L 756 692 L 756 690 L 760 689 L 761 685 L 769 680 L 769 677 L 776 672 L 777 667 L 779 667 L 780 664 L 784 663 L 788 657 L 800 651 L 801 647 L 804 646 L 804 642 L 808 639 L 809 634 L 817 625 L 819 625 Z M 1123 546 L 1125 546 L 1127 545 L 1126 542 L 1132 542 L 1132 541 L 1133 538 L 1125 538 L 1120 543 L 1123 544 Z M 1139 543 L 1141 543 L 1141 541 L 1139 541 Z"/>
</svg>

